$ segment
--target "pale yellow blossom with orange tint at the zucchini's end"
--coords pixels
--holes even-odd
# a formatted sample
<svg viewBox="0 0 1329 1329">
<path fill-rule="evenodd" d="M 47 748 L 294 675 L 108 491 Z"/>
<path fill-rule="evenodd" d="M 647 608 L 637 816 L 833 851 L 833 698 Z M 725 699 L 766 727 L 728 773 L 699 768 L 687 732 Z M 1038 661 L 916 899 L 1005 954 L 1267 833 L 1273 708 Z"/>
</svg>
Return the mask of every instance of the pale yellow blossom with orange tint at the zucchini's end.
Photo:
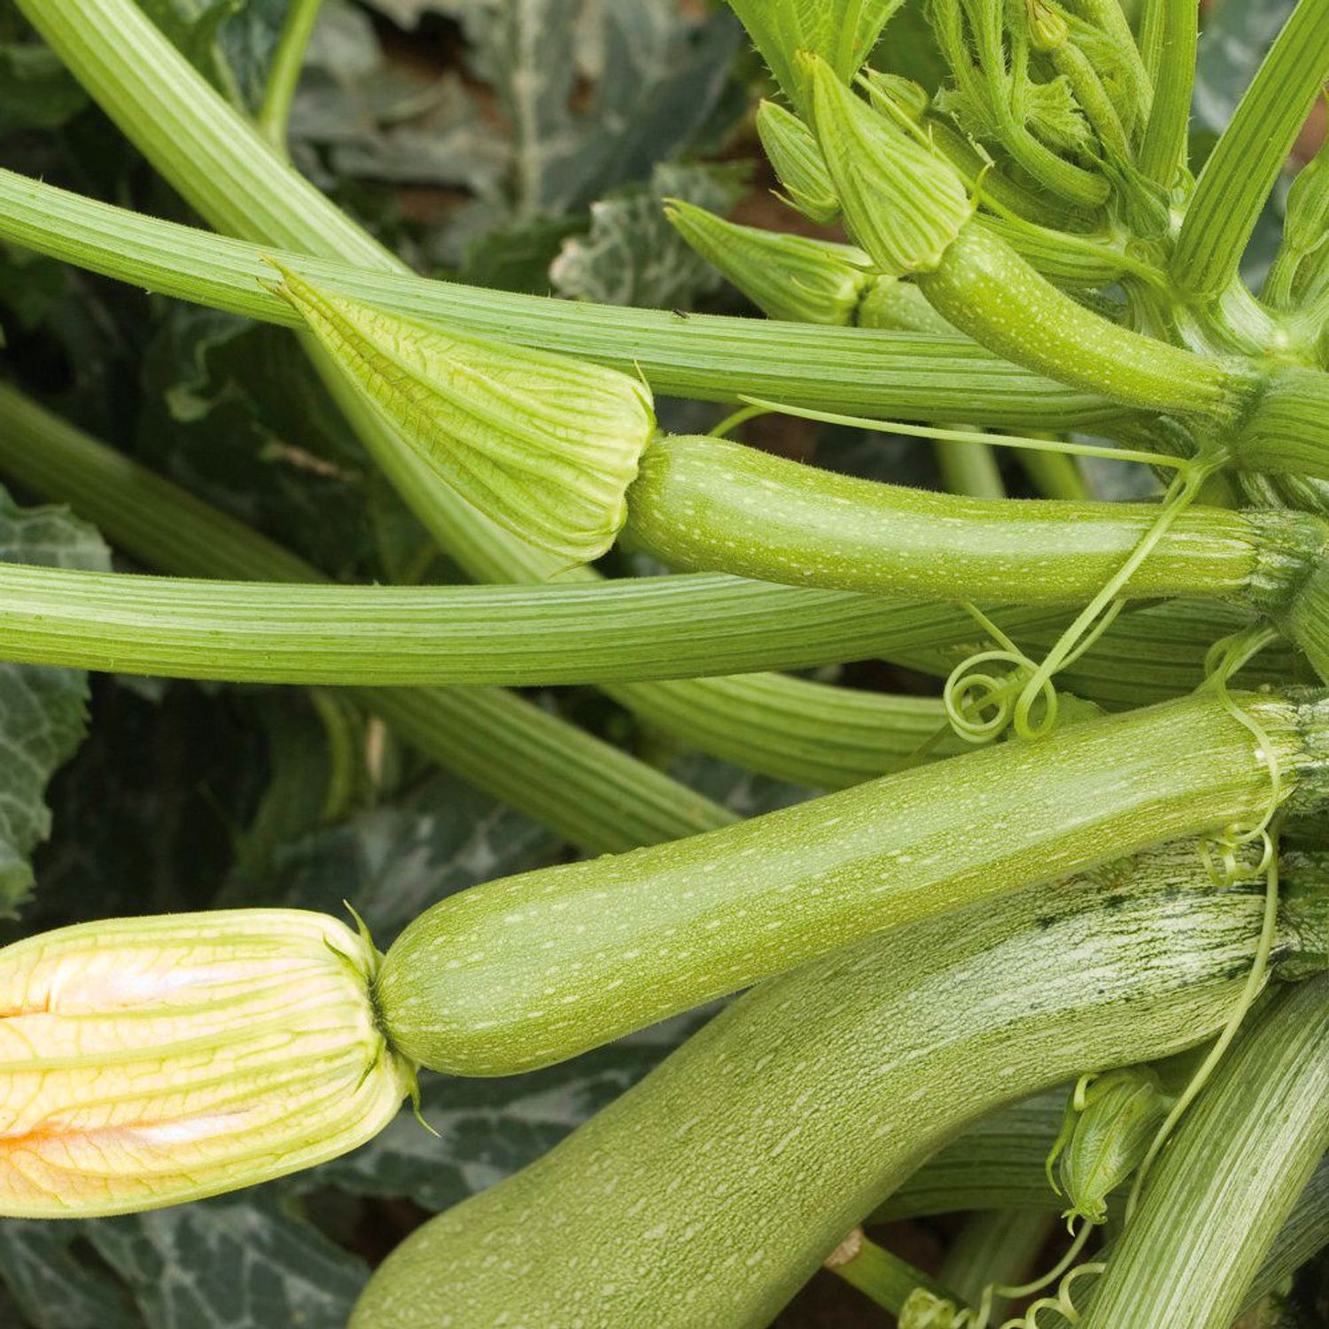
<svg viewBox="0 0 1329 1329">
<path fill-rule="evenodd" d="M 81 924 L 0 950 L 0 1213 L 197 1200 L 376 1135 L 413 1088 L 334 918 Z"/>
</svg>

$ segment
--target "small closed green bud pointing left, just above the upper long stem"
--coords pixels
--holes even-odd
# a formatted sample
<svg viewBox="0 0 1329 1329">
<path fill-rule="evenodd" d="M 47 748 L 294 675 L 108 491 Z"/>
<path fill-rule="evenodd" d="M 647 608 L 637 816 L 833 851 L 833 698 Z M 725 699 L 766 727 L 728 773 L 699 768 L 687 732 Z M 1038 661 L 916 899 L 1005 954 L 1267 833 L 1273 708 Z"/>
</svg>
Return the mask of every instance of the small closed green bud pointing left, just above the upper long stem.
<svg viewBox="0 0 1329 1329">
<path fill-rule="evenodd" d="M 872 280 L 852 245 L 738 226 L 682 199 L 666 201 L 674 229 L 772 319 L 844 327 Z"/>
</svg>

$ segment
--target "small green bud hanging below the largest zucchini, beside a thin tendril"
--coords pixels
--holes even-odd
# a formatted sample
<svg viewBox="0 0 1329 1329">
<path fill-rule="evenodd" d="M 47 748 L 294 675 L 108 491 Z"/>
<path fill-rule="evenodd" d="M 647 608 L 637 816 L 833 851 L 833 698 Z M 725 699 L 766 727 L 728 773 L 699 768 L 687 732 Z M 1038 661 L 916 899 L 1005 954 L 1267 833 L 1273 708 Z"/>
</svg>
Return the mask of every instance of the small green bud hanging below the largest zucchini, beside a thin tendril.
<svg viewBox="0 0 1329 1329">
<path fill-rule="evenodd" d="M 1107 1221 L 1108 1195 L 1144 1160 L 1171 1104 L 1147 1066 L 1110 1071 L 1076 1086 L 1047 1160 L 1049 1170 L 1058 1162 L 1061 1189 L 1071 1201 L 1067 1217 Z"/>
</svg>

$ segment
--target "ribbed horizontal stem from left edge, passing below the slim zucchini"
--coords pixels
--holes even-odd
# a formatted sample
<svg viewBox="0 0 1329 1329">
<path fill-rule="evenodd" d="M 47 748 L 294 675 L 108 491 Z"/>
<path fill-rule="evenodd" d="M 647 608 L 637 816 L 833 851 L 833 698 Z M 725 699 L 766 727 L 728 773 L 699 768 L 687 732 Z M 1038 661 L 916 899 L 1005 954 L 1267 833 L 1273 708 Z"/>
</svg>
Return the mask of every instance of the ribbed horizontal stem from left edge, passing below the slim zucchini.
<svg viewBox="0 0 1329 1329">
<path fill-rule="evenodd" d="M 0 566 L 0 658 L 342 686 L 702 678 L 926 641 L 928 605 L 731 577 L 570 586 L 300 586 Z"/>
</svg>

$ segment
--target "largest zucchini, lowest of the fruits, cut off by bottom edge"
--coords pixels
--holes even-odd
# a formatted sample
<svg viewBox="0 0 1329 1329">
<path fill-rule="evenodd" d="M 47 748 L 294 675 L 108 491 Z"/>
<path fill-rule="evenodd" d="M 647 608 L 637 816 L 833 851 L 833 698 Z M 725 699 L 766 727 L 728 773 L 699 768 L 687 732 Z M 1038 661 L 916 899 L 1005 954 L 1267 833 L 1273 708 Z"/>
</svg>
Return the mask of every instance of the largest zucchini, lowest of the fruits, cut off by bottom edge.
<svg viewBox="0 0 1329 1329">
<path fill-rule="evenodd" d="M 1063 812 L 1080 804 L 1067 791 Z M 1322 905 L 1298 894 L 1277 953 L 1322 962 Z M 1181 844 L 766 983 L 540 1162 L 408 1237 L 352 1329 L 766 1325 L 969 1123 L 1213 1033 L 1263 901 L 1213 886 Z"/>
</svg>

